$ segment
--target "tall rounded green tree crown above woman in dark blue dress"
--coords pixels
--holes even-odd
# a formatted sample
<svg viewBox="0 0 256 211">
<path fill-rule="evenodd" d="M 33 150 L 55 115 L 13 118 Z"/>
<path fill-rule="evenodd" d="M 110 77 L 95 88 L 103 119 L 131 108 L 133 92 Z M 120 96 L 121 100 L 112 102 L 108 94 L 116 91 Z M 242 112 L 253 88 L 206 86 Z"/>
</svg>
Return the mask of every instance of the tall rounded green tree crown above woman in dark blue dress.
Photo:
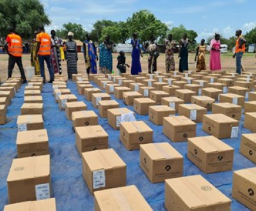
<svg viewBox="0 0 256 211">
<path fill-rule="evenodd" d="M 168 31 L 168 26 L 157 20 L 148 10 L 133 13 L 132 17 L 127 19 L 127 26 L 129 26 L 130 36 L 132 33 L 138 33 L 142 42 L 149 40 L 151 35 L 163 38 Z"/>
</svg>

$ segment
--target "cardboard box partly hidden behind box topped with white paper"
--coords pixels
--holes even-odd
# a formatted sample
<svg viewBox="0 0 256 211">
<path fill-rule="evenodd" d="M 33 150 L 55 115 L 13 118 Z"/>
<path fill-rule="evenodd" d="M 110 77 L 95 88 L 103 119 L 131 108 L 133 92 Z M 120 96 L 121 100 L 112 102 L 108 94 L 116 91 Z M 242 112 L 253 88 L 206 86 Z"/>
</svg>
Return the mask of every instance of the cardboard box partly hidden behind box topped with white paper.
<svg viewBox="0 0 256 211">
<path fill-rule="evenodd" d="M 122 119 L 122 114 L 132 113 L 131 110 L 126 107 L 121 107 L 118 109 L 108 109 L 108 123 L 113 129 L 119 130 L 120 123 Z"/>
</svg>

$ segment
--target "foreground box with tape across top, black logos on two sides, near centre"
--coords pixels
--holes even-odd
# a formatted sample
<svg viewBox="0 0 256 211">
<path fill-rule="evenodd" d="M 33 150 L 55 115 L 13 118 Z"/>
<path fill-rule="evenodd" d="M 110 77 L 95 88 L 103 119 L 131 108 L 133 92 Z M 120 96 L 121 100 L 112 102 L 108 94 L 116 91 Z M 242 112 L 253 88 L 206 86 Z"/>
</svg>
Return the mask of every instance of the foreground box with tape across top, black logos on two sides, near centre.
<svg viewBox="0 0 256 211">
<path fill-rule="evenodd" d="M 152 183 L 183 175 L 183 157 L 169 143 L 140 145 L 140 167 Z"/>
</svg>

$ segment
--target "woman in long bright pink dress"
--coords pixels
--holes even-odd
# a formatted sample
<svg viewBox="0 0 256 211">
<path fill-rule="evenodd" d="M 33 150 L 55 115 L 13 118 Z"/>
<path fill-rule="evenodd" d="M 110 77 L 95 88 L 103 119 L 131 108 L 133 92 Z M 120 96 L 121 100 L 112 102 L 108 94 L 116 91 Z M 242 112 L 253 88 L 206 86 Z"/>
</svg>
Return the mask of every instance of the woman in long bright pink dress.
<svg viewBox="0 0 256 211">
<path fill-rule="evenodd" d="M 210 56 L 210 70 L 221 70 L 220 61 L 220 35 L 215 34 L 215 37 L 211 41 L 211 56 Z"/>
</svg>

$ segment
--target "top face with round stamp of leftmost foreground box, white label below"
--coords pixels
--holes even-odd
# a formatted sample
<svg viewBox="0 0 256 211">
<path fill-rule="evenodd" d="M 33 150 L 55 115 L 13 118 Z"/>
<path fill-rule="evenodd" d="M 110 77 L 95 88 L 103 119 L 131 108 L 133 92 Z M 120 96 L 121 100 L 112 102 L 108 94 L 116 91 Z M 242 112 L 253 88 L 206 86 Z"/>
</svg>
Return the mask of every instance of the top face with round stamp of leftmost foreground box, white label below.
<svg viewBox="0 0 256 211">
<path fill-rule="evenodd" d="M 7 182 L 50 175 L 50 155 L 13 159 Z"/>
</svg>

